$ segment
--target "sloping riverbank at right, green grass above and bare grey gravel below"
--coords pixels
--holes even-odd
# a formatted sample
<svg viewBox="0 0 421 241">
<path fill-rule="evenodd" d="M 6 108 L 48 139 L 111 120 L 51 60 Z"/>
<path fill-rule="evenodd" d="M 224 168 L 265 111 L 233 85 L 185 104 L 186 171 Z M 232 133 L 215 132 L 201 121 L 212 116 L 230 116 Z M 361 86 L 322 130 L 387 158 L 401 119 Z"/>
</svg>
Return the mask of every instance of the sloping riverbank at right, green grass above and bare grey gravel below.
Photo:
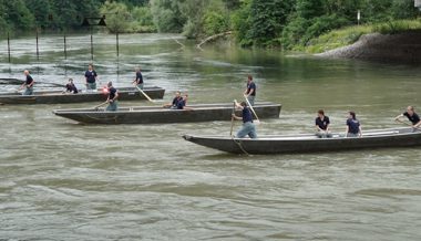
<svg viewBox="0 0 421 241">
<path fill-rule="evenodd" d="M 335 30 L 309 41 L 301 51 L 325 57 L 421 63 L 420 40 L 419 20 L 398 20 Z"/>
</svg>

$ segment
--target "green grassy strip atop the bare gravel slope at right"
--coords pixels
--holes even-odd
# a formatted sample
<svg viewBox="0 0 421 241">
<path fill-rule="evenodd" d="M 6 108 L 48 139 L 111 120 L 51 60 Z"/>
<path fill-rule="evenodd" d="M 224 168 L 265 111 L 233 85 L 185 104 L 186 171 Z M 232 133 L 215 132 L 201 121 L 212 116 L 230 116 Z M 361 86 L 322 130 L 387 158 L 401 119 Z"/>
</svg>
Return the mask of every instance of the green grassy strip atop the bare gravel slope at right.
<svg viewBox="0 0 421 241">
<path fill-rule="evenodd" d="M 296 51 L 307 53 L 322 53 L 357 42 L 361 35 L 368 33 L 397 34 L 407 31 L 421 30 L 421 20 L 396 20 L 377 24 L 347 27 L 333 30 L 310 40 L 306 46 L 297 45 Z"/>
</svg>

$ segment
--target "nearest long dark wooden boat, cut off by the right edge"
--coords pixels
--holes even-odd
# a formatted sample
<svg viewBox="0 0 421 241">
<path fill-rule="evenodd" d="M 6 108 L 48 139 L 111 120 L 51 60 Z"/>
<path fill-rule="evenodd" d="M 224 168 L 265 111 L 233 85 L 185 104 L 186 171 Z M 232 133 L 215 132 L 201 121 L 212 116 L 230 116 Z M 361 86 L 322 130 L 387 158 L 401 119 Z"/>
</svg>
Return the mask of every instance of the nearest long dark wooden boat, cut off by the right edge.
<svg viewBox="0 0 421 241">
<path fill-rule="evenodd" d="M 184 139 L 232 154 L 301 154 L 421 145 L 421 130 L 411 127 L 364 132 L 362 137 L 314 135 L 258 136 L 256 139 L 184 135 Z"/>
</svg>

